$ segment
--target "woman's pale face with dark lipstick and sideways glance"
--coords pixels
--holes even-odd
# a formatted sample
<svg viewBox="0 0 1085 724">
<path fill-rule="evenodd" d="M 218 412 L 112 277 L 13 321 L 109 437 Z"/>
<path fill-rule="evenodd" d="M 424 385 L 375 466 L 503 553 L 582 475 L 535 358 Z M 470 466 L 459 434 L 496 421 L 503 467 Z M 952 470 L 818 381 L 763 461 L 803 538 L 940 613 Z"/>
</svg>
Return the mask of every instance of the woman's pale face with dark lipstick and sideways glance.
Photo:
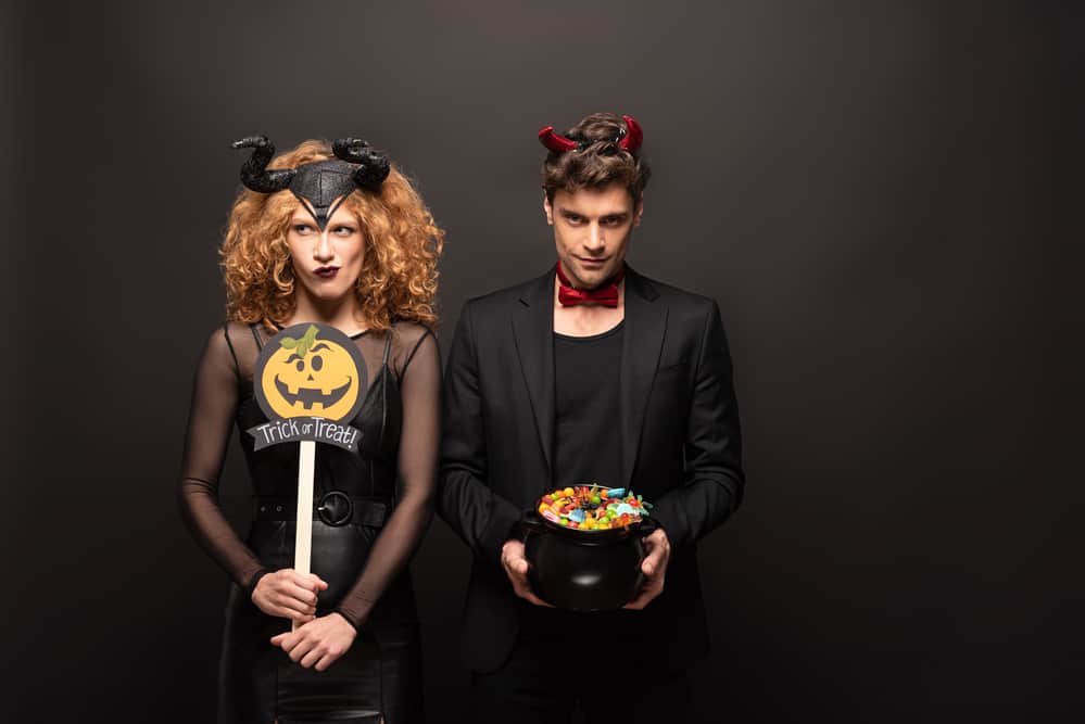
<svg viewBox="0 0 1085 724">
<path fill-rule="evenodd" d="M 351 294 L 362 274 L 365 240 L 362 225 L 346 204 L 340 204 L 320 231 L 310 213 L 299 206 L 290 219 L 287 245 L 300 284 L 295 293 L 314 302 L 336 302 Z"/>
</svg>

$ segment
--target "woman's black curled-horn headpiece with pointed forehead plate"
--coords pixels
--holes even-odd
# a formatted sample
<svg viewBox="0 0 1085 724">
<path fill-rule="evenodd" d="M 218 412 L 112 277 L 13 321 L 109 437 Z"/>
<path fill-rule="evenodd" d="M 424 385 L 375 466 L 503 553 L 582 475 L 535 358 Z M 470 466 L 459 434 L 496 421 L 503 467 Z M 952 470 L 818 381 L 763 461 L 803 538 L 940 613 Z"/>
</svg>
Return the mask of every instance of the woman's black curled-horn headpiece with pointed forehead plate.
<svg viewBox="0 0 1085 724">
<path fill-rule="evenodd" d="M 341 138 L 331 144 L 336 158 L 302 164 L 297 168 L 267 170 L 275 145 L 265 136 L 250 136 L 234 142 L 235 149 L 252 149 L 241 166 L 241 182 L 260 193 L 290 189 L 316 219 L 321 230 L 339 204 L 355 189 L 380 192 L 388 178 L 388 157 L 357 138 Z"/>
</svg>

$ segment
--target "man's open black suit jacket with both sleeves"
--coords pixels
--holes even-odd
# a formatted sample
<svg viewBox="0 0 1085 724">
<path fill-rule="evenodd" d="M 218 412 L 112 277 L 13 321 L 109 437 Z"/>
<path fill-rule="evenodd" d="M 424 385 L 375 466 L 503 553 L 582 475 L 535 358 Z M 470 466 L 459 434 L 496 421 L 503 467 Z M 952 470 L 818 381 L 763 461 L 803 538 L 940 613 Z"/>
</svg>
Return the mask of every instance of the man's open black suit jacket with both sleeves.
<svg viewBox="0 0 1085 724">
<path fill-rule="evenodd" d="M 708 650 L 696 542 L 742 500 L 739 411 L 715 301 L 626 276 L 620 419 L 622 480 L 655 504 L 671 543 L 664 593 L 634 615 L 648 650 L 678 666 Z M 442 518 L 475 555 L 463 652 L 492 671 L 527 604 L 501 566 L 521 511 L 553 488 L 554 271 L 464 306 L 444 382 Z"/>
</svg>

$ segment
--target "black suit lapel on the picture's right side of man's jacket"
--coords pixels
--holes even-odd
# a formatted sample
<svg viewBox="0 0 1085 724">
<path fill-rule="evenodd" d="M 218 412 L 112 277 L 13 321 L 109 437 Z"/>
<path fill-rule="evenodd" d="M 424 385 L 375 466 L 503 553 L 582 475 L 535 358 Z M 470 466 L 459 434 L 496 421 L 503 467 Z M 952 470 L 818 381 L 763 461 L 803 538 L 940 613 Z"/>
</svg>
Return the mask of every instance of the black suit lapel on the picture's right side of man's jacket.
<svg viewBox="0 0 1085 724">
<path fill-rule="evenodd" d="M 647 279 L 629 269 L 626 276 L 626 331 L 621 347 L 621 481 L 629 487 L 636 465 L 644 411 L 652 392 L 664 336 L 667 307 Z"/>
</svg>

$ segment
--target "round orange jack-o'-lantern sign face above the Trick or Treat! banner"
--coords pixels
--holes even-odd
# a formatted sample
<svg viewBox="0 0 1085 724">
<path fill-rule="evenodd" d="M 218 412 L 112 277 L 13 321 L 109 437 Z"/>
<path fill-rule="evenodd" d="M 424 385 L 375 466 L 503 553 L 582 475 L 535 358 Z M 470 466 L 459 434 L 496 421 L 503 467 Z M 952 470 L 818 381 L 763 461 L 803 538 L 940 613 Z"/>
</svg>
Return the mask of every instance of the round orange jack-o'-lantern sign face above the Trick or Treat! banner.
<svg viewBox="0 0 1085 724">
<path fill-rule="evenodd" d="M 365 360 L 335 327 L 294 325 L 261 350 L 253 381 L 256 402 L 269 418 L 349 421 L 365 397 Z"/>
</svg>

